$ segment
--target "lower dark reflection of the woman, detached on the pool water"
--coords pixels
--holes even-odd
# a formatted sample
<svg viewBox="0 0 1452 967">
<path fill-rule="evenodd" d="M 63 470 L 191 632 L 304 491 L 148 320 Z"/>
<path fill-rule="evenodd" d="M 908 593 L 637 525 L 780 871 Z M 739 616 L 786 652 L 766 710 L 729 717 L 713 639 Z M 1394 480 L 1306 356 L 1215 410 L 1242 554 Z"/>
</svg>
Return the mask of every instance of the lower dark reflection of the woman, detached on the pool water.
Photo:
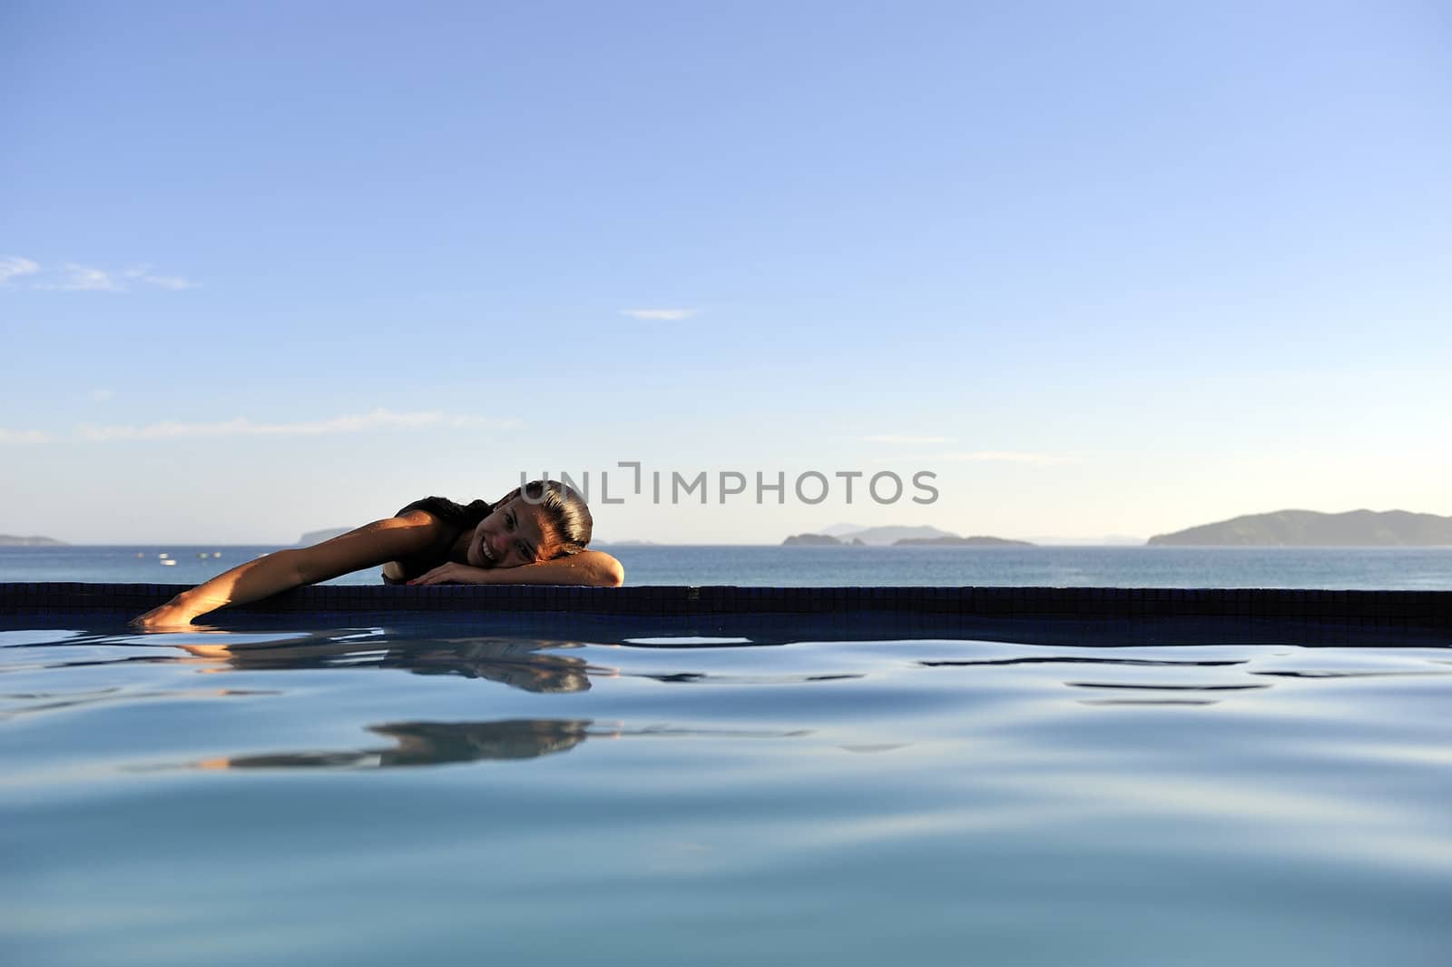
<svg viewBox="0 0 1452 967">
<path fill-rule="evenodd" d="M 533 759 L 552 752 L 568 752 L 587 738 L 621 739 L 626 736 L 713 736 L 732 739 L 793 739 L 810 729 L 788 732 L 671 729 L 671 727 L 592 727 L 592 719 L 502 719 L 497 722 L 389 722 L 369 726 L 369 732 L 393 740 L 391 746 L 344 749 L 335 752 L 270 752 L 235 755 L 189 762 L 183 768 L 393 768 L 398 765 L 443 765 L 481 759 Z M 171 767 L 163 767 L 171 768 Z"/>
</svg>

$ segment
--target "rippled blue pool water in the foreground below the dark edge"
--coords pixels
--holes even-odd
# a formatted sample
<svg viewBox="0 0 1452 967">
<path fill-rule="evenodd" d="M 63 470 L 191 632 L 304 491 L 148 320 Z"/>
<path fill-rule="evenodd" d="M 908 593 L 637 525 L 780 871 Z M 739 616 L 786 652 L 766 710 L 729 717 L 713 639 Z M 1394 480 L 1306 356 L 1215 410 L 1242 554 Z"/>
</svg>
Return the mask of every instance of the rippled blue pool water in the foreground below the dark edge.
<svg viewBox="0 0 1452 967">
<path fill-rule="evenodd" d="M 1452 963 L 1452 652 L 0 632 L 7 964 Z"/>
</svg>

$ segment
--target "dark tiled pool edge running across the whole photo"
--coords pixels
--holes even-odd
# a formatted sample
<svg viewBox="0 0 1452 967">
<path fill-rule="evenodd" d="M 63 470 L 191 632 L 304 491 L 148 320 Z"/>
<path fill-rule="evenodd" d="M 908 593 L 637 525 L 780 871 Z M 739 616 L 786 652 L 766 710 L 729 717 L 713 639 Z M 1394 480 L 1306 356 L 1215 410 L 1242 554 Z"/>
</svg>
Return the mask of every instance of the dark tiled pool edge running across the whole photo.
<svg viewBox="0 0 1452 967">
<path fill-rule="evenodd" d="M 25 627 L 61 617 L 123 619 L 187 587 L 0 584 L 0 620 Z M 350 621 L 433 614 L 479 632 L 598 640 L 741 635 L 754 643 L 945 636 L 1085 645 L 1452 645 L 1452 591 L 312 585 L 213 611 L 202 621 L 256 627 L 269 616 L 335 621 L 340 614 Z"/>
</svg>

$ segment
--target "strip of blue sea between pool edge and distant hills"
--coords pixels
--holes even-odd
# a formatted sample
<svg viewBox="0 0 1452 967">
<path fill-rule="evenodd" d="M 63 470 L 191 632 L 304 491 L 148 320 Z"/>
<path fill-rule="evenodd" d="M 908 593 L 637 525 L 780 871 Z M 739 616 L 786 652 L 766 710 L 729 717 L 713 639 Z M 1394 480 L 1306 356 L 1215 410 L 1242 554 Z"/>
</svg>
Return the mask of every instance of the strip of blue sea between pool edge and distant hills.
<svg viewBox="0 0 1452 967">
<path fill-rule="evenodd" d="M 277 544 L 0 547 L 0 581 L 199 584 Z M 1452 547 L 605 547 L 630 585 L 1452 589 Z M 176 563 L 166 563 L 174 560 Z M 379 584 L 376 569 L 330 584 Z"/>
</svg>

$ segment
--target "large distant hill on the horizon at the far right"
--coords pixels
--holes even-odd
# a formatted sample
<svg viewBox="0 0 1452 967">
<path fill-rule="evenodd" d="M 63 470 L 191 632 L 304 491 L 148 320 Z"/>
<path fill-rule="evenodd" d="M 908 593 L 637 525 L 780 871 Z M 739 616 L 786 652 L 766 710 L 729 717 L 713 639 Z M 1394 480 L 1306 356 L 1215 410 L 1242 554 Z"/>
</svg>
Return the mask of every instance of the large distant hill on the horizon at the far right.
<svg viewBox="0 0 1452 967">
<path fill-rule="evenodd" d="M 1356 510 L 1276 511 L 1156 534 L 1150 544 L 1268 547 L 1435 547 L 1452 544 L 1452 517 Z"/>
</svg>

